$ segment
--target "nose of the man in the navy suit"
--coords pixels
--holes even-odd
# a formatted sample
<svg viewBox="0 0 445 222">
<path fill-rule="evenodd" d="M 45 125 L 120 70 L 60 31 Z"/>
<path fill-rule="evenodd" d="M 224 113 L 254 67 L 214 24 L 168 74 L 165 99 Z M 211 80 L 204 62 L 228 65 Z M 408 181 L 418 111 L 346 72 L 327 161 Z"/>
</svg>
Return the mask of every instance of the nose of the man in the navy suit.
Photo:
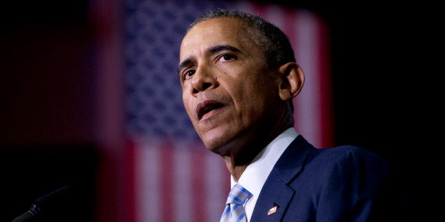
<svg viewBox="0 0 445 222">
<path fill-rule="evenodd" d="M 203 90 L 215 88 L 217 84 L 218 82 L 210 69 L 203 66 L 198 67 L 192 77 L 191 94 L 196 95 L 196 93 L 202 92 Z"/>
</svg>

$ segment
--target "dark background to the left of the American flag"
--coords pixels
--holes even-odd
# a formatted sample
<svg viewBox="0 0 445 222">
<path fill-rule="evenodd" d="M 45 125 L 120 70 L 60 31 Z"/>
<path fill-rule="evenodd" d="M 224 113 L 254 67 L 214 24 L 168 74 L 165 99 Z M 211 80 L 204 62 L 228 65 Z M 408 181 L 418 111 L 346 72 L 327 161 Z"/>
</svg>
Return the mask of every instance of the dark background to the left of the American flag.
<svg viewBox="0 0 445 222">
<path fill-rule="evenodd" d="M 0 221 L 67 185 L 40 219 L 93 221 L 102 160 L 88 7 L 74 0 L 1 3 Z"/>
</svg>

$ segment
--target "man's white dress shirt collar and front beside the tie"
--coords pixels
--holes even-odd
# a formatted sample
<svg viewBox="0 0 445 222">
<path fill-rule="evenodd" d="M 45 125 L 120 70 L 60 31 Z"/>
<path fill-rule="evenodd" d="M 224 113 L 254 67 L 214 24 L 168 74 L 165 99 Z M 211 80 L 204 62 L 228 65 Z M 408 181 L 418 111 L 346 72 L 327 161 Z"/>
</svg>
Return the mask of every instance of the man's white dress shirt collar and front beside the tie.
<svg viewBox="0 0 445 222">
<path fill-rule="evenodd" d="M 247 221 L 252 218 L 259 192 L 261 192 L 261 188 L 263 187 L 264 182 L 266 182 L 267 177 L 269 177 L 276 161 L 278 161 L 281 154 L 283 154 L 289 144 L 291 144 L 297 136 L 298 134 L 293 127 L 278 135 L 270 144 L 258 153 L 252 163 L 250 163 L 246 170 L 244 170 L 244 173 L 242 173 L 238 183 L 252 193 L 252 197 L 247 199 L 244 204 Z M 230 187 L 235 186 L 237 183 L 233 180 L 232 176 L 230 177 L 230 181 Z"/>
</svg>

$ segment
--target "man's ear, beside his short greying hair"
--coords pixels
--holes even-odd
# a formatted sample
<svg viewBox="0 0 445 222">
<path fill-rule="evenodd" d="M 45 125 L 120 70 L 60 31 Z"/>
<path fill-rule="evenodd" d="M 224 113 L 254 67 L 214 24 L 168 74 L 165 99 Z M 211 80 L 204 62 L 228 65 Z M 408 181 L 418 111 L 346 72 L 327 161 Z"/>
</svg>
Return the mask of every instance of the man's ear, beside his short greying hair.
<svg viewBox="0 0 445 222">
<path fill-rule="evenodd" d="M 281 100 L 291 100 L 300 93 L 305 83 L 305 74 L 295 62 L 288 62 L 278 68 L 280 83 L 278 94 Z"/>
</svg>

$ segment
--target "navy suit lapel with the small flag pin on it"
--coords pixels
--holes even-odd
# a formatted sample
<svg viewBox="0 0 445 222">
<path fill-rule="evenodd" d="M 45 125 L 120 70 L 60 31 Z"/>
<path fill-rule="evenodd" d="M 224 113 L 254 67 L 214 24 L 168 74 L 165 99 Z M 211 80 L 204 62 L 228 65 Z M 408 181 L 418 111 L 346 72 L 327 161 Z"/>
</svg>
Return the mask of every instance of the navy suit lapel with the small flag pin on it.
<svg viewBox="0 0 445 222">
<path fill-rule="evenodd" d="M 281 221 L 295 190 L 288 184 L 303 169 L 308 153 L 315 149 L 303 136 L 298 136 L 286 148 L 267 177 L 249 221 Z"/>
</svg>

